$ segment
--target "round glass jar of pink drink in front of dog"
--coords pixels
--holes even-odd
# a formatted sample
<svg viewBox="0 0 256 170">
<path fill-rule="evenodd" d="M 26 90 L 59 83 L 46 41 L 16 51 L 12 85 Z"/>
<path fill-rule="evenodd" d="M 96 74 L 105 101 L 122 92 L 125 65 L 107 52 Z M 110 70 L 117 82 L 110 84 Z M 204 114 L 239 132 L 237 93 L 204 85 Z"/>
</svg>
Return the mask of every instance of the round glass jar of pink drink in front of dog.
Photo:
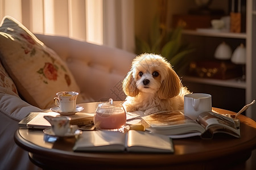
<svg viewBox="0 0 256 170">
<path fill-rule="evenodd" d="M 98 129 L 119 129 L 126 124 L 126 113 L 122 108 L 97 109 L 94 124 Z"/>
</svg>

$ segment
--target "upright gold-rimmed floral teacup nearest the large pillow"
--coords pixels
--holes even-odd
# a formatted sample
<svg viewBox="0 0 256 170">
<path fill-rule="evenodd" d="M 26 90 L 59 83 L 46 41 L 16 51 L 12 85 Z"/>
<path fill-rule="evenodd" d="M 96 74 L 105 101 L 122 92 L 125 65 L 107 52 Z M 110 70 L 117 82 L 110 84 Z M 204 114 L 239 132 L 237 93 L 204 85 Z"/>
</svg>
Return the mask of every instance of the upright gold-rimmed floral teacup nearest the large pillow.
<svg viewBox="0 0 256 170">
<path fill-rule="evenodd" d="M 54 103 L 57 107 L 60 107 L 61 112 L 76 112 L 76 99 L 79 95 L 78 92 L 63 91 L 58 92 L 56 95 L 58 97 L 54 97 Z"/>
</svg>

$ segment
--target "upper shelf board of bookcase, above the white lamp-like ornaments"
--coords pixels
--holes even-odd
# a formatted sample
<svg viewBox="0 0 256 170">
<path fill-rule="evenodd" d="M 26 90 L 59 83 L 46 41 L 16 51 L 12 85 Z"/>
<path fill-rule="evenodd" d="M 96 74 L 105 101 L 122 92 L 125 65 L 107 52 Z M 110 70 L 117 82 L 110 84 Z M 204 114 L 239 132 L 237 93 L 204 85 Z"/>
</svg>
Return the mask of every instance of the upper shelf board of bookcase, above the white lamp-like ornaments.
<svg viewBox="0 0 256 170">
<path fill-rule="evenodd" d="M 246 33 L 231 33 L 231 32 L 218 32 L 211 31 L 211 29 L 200 29 L 201 31 L 196 30 L 184 30 L 183 34 L 185 35 L 196 35 L 196 36 L 210 36 L 210 37 L 224 37 L 232 39 L 246 39 Z"/>
</svg>

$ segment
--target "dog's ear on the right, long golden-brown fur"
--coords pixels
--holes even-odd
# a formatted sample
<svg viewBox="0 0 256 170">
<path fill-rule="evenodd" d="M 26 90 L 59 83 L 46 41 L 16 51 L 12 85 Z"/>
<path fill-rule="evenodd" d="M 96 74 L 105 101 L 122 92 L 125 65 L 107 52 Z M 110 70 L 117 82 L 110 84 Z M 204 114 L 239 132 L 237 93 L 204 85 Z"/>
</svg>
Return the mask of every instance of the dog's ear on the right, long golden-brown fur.
<svg viewBox="0 0 256 170">
<path fill-rule="evenodd" d="M 181 88 L 180 78 L 175 71 L 168 67 L 167 77 L 164 78 L 158 91 L 160 99 L 168 99 L 179 95 Z"/>
</svg>

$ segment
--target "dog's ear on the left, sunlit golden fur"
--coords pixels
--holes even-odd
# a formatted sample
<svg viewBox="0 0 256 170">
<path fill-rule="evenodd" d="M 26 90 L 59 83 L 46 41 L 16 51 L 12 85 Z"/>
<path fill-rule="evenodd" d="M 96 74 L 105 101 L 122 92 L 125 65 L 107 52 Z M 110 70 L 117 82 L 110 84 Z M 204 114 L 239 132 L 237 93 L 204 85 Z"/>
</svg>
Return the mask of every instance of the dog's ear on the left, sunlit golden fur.
<svg viewBox="0 0 256 170">
<path fill-rule="evenodd" d="M 139 90 L 133 78 L 133 71 L 129 71 L 126 78 L 123 79 L 123 92 L 125 92 L 127 96 L 131 97 L 135 97 L 139 94 Z"/>
</svg>

